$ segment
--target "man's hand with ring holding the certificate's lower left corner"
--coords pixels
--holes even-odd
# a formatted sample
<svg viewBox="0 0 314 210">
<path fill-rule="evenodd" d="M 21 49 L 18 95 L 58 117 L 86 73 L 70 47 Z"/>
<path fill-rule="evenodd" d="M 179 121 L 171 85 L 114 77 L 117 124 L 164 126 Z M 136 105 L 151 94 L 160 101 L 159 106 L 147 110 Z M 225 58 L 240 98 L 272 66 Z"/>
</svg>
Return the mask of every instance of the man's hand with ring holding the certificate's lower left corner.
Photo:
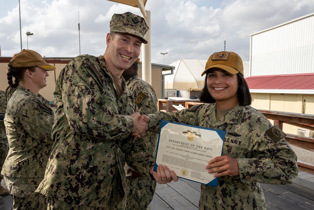
<svg viewBox="0 0 314 210">
<path fill-rule="evenodd" d="M 167 184 L 172 180 L 175 182 L 179 180 L 174 171 L 169 171 L 168 167 L 163 165 L 159 165 L 157 167 L 157 172 L 155 172 L 152 167 L 149 170 L 149 173 L 151 173 L 154 176 L 158 184 Z"/>
</svg>

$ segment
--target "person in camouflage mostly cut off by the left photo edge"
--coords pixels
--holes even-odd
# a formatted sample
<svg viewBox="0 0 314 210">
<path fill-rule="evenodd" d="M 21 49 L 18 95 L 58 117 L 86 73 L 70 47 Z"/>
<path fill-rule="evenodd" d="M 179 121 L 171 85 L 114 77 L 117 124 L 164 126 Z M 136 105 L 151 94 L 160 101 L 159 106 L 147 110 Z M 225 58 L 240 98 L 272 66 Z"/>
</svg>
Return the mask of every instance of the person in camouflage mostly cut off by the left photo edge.
<svg viewBox="0 0 314 210">
<path fill-rule="evenodd" d="M 5 100 L 5 92 L 0 90 L 0 171 L 2 170 L 2 166 L 5 158 L 8 155 L 9 143 L 7 139 L 7 135 L 5 132 L 5 126 L 3 122 L 4 114 L 7 109 L 7 101 Z M 0 174 L 0 181 L 3 179 L 3 175 Z M 0 185 L 0 196 L 6 196 L 9 194 L 9 190 L 4 189 Z"/>
</svg>

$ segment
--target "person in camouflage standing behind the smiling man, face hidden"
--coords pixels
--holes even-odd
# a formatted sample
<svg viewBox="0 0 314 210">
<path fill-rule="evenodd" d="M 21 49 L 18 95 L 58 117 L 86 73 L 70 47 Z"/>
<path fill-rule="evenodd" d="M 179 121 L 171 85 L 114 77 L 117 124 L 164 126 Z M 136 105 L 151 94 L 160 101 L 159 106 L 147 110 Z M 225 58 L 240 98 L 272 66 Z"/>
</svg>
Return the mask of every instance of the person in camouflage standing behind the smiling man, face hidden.
<svg viewBox="0 0 314 210">
<path fill-rule="evenodd" d="M 138 75 L 139 59 L 123 71 L 122 76 L 127 82 L 127 87 L 133 92 L 135 104 L 140 114 L 154 113 L 158 111 L 158 99 L 154 88 Z M 156 156 L 158 134 L 148 131 L 143 140 L 150 154 Z M 131 169 L 129 169 L 131 170 Z M 150 209 L 156 189 L 156 182 L 146 177 L 138 177 L 137 172 L 132 170 L 131 178 L 127 178 L 127 209 Z"/>
</svg>

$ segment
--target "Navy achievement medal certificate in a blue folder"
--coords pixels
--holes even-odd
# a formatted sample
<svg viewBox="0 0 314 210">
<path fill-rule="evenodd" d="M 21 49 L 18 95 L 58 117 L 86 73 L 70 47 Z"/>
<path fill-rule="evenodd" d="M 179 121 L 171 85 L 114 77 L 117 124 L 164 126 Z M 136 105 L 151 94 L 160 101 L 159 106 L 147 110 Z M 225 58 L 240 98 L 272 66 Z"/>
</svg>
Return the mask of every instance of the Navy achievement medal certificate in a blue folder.
<svg viewBox="0 0 314 210">
<path fill-rule="evenodd" d="M 216 187 L 218 178 L 209 174 L 208 161 L 221 156 L 225 131 L 161 121 L 156 162 L 183 179 Z"/>
</svg>

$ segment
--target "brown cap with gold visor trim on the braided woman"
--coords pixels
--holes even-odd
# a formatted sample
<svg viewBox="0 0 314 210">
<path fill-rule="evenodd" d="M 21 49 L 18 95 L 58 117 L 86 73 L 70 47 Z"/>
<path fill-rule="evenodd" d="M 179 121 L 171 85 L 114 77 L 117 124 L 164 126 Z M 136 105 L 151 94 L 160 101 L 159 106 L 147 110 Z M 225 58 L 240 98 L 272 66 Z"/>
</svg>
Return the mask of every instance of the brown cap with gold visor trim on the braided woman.
<svg viewBox="0 0 314 210">
<path fill-rule="evenodd" d="M 53 65 L 47 64 L 39 53 L 30 49 L 23 49 L 21 52 L 14 54 L 8 66 L 10 68 L 38 66 L 46 71 L 53 71 L 56 69 Z"/>
</svg>

